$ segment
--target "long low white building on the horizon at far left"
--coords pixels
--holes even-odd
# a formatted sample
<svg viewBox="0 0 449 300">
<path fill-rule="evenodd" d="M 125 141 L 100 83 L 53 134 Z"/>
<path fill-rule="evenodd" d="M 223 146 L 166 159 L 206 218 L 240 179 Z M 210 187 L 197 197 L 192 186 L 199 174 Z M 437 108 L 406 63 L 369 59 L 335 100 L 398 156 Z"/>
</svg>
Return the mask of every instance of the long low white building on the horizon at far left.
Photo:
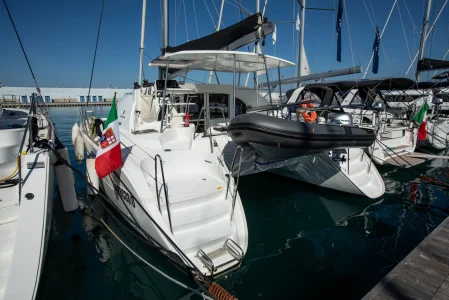
<svg viewBox="0 0 449 300">
<path fill-rule="evenodd" d="M 117 101 L 132 89 L 91 89 L 88 99 L 88 88 L 41 88 L 42 99 L 44 102 L 110 102 L 117 92 Z M 32 94 L 36 93 L 34 87 L 12 87 L 0 86 L 0 102 L 20 102 L 27 103 L 31 101 Z"/>
</svg>

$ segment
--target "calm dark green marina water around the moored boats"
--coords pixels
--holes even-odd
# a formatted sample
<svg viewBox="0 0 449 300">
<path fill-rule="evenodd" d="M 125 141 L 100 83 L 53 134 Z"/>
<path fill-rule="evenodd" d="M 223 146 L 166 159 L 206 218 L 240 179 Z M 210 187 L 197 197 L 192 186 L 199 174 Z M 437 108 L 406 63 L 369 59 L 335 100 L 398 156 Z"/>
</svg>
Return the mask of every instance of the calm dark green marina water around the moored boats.
<svg viewBox="0 0 449 300">
<path fill-rule="evenodd" d="M 108 111 L 95 108 L 97 116 Z M 77 109 L 52 108 L 50 114 L 73 158 Z M 84 165 L 73 159 L 72 165 L 85 173 Z M 447 180 L 446 161 L 421 169 Z M 271 174 L 241 177 L 248 252 L 242 268 L 219 283 L 239 299 L 363 297 L 448 216 L 443 188 L 411 183 L 417 178 L 409 170 L 379 171 L 387 192 L 376 200 Z M 99 203 L 85 204 L 80 192 L 79 201 L 81 208 L 68 214 L 56 199 L 38 299 L 180 299 L 187 294 L 134 258 L 97 221 L 99 216 L 150 263 L 195 287 Z"/>
</svg>

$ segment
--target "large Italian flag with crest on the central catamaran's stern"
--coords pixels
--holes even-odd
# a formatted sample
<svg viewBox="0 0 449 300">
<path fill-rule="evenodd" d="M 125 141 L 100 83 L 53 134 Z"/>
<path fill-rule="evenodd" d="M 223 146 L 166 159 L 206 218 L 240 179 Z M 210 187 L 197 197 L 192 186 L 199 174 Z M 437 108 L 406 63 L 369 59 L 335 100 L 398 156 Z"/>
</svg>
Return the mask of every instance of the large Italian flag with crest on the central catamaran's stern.
<svg viewBox="0 0 449 300">
<path fill-rule="evenodd" d="M 111 110 L 104 124 L 95 159 L 95 170 L 98 177 L 103 178 L 122 166 L 122 150 L 120 149 L 120 135 L 118 129 L 117 107 L 115 95 L 112 99 Z"/>
</svg>

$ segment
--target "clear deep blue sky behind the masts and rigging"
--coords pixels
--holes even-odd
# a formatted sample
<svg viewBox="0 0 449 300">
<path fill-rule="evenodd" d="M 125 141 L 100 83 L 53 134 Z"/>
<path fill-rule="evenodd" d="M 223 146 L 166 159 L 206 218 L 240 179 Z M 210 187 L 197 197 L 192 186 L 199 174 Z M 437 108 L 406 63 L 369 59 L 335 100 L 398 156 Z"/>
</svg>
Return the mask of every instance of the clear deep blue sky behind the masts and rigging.
<svg viewBox="0 0 449 300">
<path fill-rule="evenodd" d="M 39 86 L 88 87 L 102 0 L 6 2 Z M 138 80 L 142 1 L 104 2 L 92 87 L 132 88 L 133 82 Z M 144 75 L 154 80 L 157 71 L 148 67 L 148 63 L 161 53 L 161 8 L 159 0 L 147 2 Z M 222 27 L 240 20 L 237 2 L 225 2 Z M 263 9 L 265 1 L 260 2 Z M 435 23 L 444 2 L 433 0 L 430 13 L 433 31 L 426 42 L 425 57 L 442 59 L 449 50 L 449 5 Z M 246 10 L 255 12 L 256 1 L 241 0 L 241 3 Z M 336 11 L 306 10 L 304 46 L 312 73 L 354 65 L 362 65 L 365 71 L 375 38 L 373 26 L 377 24 L 382 31 L 394 0 L 344 0 L 344 3 L 341 63 L 336 60 Z M 169 0 L 170 45 L 180 45 L 213 33 L 220 4 L 220 0 Z M 411 58 L 419 48 L 425 4 L 426 0 L 397 0 L 381 40 L 379 73 L 373 74 L 370 68 L 367 78 L 405 76 Z M 336 8 L 337 5 L 338 0 L 306 1 L 308 8 Z M 263 53 L 297 62 L 298 31 L 294 30 L 292 22 L 297 11 L 296 0 L 267 0 L 265 16 L 277 22 L 277 42 L 273 45 L 272 37 L 268 36 Z M 245 17 L 245 13 L 242 15 Z M 0 82 L 5 86 L 34 86 L 2 2 L 0 41 Z M 246 47 L 242 50 L 246 51 Z M 413 78 L 415 69 L 413 66 L 407 77 Z M 281 71 L 284 78 L 294 76 L 295 72 L 296 68 Z M 421 78 L 426 80 L 433 74 L 428 73 L 423 73 Z M 340 78 L 361 78 L 362 75 Z M 205 73 L 195 72 L 190 77 L 203 81 Z M 276 78 L 277 71 L 270 72 L 270 80 Z"/>
</svg>

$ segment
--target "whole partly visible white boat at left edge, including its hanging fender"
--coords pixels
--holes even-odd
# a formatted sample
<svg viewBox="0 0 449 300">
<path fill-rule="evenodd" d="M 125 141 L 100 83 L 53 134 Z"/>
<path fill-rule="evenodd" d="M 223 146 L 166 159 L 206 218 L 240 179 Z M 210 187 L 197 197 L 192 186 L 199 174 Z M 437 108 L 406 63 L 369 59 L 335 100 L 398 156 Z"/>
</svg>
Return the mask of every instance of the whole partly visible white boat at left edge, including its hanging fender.
<svg viewBox="0 0 449 300">
<path fill-rule="evenodd" d="M 0 106 L 0 299 L 35 299 L 50 237 L 54 176 L 66 211 L 77 209 L 67 149 L 49 115 Z"/>
</svg>

